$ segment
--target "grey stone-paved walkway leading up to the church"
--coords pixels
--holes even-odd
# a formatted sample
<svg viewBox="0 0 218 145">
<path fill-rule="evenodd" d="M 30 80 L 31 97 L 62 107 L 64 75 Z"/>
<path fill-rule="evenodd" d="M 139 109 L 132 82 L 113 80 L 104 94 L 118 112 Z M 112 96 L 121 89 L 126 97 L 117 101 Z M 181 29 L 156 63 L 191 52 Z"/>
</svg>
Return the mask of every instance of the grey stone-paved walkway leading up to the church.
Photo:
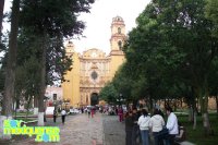
<svg viewBox="0 0 218 145">
<path fill-rule="evenodd" d="M 94 118 L 87 114 L 68 116 L 65 124 L 61 117 L 57 123 L 47 119 L 46 126 L 60 128 L 60 142 L 37 143 L 34 137 L 0 142 L 1 145 L 125 145 L 124 123 L 117 116 L 96 113 Z"/>
</svg>

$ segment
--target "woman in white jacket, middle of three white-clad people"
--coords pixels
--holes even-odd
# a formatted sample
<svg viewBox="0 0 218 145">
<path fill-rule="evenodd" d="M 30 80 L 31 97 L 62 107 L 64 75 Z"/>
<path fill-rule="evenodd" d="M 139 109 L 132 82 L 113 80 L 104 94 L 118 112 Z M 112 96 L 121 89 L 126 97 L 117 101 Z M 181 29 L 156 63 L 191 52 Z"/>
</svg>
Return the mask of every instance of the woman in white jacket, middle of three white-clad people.
<svg viewBox="0 0 218 145">
<path fill-rule="evenodd" d="M 158 140 L 158 133 L 162 130 L 162 126 L 165 125 L 165 120 L 162 116 L 160 116 L 160 111 L 158 109 L 155 109 L 154 116 L 150 118 L 149 126 L 153 131 L 153 136 L 155 141 L 155 145 L 159 145 Z"/>
</svg>

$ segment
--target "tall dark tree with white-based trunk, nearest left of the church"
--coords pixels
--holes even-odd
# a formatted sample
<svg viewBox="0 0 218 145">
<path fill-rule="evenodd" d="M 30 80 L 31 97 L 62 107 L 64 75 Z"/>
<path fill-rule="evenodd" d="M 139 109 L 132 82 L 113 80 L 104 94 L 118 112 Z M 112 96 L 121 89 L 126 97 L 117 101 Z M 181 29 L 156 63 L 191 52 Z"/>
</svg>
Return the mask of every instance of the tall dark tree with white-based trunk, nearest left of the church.
<svg viewBox="0 0 218 145">
<path fill-rule="evenodd" d="M 84 23 L 77 20 L 81 12 L 89 12 L 89 4 L 94 0 L 24 0 L 21 8 L 21 27 L 35 35 L 34 41 L 39 41 L 36 48 L 38 49 L 40 59 L 40 95 L 38 97 L 39 113 L 38 124 L 44 125 L 44 94 L 47 82 L 47 55 L 61 53 L 61 47 L 53 47 L 57 41 L 58 46 L 62 44 L 64 37 L 73 37 L 82 34 Z M 38 11 L 40 10 L 40 11 Z M 49 49 L 52 46 L 52 50 Z M 57 46 L 57 44 L 55 45 Z M 58 49 L 59 48 L 59 49 Z M 62 53 L 61 53 L 62 55 Z M 60 58 L 60 57 L 59 57 Z M 59 59 L 61 62 L 61 59 Z M 51 64 L 51 68 L 57 69 Z"/>
</svg>

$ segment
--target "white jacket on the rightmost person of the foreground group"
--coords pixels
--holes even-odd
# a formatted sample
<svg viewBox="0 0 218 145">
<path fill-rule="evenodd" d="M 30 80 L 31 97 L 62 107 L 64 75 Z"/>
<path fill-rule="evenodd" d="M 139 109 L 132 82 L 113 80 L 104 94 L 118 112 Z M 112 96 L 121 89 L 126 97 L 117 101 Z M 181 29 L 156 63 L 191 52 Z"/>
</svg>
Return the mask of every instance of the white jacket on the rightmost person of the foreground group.
<svg viewBox="0 0 218 145">
<path fill-rule="evenodd" d="M 169 134 L 179 134 L 178 128 L 179 126 L 177 116 L 171 112 L 167 119 L 167 129 L 169 130 Z"/>
</svg>

